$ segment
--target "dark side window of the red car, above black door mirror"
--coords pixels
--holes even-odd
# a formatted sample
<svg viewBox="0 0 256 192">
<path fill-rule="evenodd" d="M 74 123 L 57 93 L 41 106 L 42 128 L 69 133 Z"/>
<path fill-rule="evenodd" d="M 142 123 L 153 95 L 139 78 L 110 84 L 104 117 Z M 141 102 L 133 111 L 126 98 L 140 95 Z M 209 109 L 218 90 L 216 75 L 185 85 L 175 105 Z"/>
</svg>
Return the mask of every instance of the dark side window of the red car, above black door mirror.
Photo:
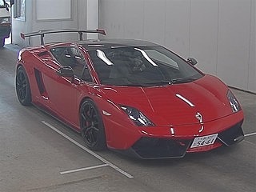
<svg viewBox="0 0 256 192">
<path fill-rule="evenodd" d="M 75 46 L 55 47 L 50 52 L 61 66 L 70 66 L 78 78 L 83 78 L 83 70 L 88 70 L 85 58 Z"/>
</svg>

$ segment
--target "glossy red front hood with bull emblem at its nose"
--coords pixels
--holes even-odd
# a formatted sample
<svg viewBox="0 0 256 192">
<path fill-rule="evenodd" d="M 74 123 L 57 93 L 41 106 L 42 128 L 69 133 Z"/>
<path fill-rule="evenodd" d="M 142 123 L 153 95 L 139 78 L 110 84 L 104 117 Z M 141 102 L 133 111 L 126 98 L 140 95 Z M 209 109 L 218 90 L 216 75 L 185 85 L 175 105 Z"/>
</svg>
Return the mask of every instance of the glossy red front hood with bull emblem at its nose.
<svg viewBox="0 0 256 192">
<path fill-rule="evenodd" d="M 227 90 L 223 82 L 210 75 L 170 86 L 103 88 L 112 102 L 140 110 L 157 126 L 210 122 L 232 114 Z"/>
</svg>

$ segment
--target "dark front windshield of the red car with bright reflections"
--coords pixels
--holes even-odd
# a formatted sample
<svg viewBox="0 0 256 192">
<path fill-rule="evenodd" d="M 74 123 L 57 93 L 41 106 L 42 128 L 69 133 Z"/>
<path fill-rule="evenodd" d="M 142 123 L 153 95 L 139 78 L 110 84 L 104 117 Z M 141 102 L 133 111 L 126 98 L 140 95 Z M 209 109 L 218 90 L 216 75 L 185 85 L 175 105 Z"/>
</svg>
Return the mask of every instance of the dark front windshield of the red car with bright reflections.
<svg viewBox="0 0 256 192">
<path fill-rule="evenodd" d="M 198 70 L 162 46 L 99 48 L 89 54 L 104 85 L 160 86 L 202 78 Z"/>
</svg>

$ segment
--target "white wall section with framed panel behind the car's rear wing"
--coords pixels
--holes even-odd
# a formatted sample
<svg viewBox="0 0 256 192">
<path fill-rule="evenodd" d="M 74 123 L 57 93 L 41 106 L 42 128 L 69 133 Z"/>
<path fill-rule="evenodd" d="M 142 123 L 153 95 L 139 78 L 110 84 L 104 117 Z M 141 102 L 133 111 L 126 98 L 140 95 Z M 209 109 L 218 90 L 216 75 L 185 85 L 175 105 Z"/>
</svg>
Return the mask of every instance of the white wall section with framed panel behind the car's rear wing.
<svg viewBox="0 0 256 192">
<path fill-rule="evenodd" d="M 60 0 L 59 0 L 60 1 Z M 58 1 L 58 2 L 59 2 Z M 42 1 L 40 1 L 43 3 Z M 46 6 L 38 6 L 37 1 L 26 0 L 26 20 L 19 21 L 14 19 L 13 21 L 13 42 L 22 46 L 37 46 L 40 44 L 39 37 L 26 38 L 22 40 L 19 34 L 30 33 L 32 31 L 38 30 L 61 30 L 61 29 L 78 29 L 78 12 L 81 11 L 78 7 L 78 0 L 67 1 L 70 3 L 66 6 L 65 4 L 59 4 L 58 9 L 60 12 L 56 11 L 50 17 L 43 16 L 43 10 L 46 10 Z M 56 8 L 56 3 L 54 6 Z M 63 10 L 70 9 L 68 11 L 69 16 L 63 14 Z M 86 7 L 85 7 L 86 8 Z M 40 14 L 38 14 L 38 11 Z M 54 10 L 47 10 L 47 14 L 50 14 Z M 38 17 L 41 20 L 38 20 Z M 65 40 L 78 40 L 78 34 L 51 34 L 46 35 L 45 42 L 58 42 Z"/>
</svg>

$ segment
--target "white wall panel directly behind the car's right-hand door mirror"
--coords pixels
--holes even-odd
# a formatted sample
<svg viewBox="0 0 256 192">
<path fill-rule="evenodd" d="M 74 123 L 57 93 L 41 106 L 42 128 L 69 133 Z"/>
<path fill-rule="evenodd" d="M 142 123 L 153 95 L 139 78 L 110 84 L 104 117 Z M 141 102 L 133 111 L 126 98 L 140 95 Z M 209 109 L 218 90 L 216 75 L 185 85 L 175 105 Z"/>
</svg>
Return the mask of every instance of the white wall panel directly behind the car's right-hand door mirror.
<svg viewBox="0 0 256 192">
<path fill-rule="evenodd" d="M 218 1 L 193 0 L 190 11 L 190 56 L 202 71 L 217 74 Z"/>
</svg>

